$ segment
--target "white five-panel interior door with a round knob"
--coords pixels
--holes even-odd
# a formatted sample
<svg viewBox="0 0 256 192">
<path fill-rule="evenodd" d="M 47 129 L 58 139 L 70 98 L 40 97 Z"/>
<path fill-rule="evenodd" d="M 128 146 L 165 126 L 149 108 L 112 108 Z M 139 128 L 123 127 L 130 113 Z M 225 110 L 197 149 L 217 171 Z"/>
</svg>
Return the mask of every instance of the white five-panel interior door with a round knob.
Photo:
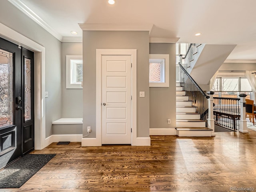
<svg viewBox="0 0 256 192">
<path fill-rule="evenodd" d="M 131 56 L 102 56 L 102 144 L 131 144 Z"/>
</svg>

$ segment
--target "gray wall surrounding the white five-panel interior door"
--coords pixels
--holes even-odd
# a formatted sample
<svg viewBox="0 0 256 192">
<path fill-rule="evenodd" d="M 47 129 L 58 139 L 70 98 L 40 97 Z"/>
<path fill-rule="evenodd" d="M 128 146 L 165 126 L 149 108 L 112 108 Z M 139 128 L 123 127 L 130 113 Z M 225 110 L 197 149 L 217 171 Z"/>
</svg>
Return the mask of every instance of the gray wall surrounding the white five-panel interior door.
<svg viewBox="0 0 256 192">
<path fill-rule="evenodd" d="M 83 32 L 83 126 L 96 137 L 96 49 L 137 49 L 137 136 L 149 136 L 149 33 L 146 31 Z M 139 92 L 145 98 L 139 98 Z"/>
</svg>

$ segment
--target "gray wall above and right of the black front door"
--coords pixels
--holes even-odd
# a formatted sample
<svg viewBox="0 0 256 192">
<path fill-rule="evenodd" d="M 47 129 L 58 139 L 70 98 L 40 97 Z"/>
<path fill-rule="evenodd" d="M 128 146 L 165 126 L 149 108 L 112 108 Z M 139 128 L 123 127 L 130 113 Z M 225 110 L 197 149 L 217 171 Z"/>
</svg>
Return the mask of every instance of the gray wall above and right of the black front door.
<svg viewBox="0 0 256 192">
<path fill-rule="evenodd" d="M 61 117 L 61 42 L 28 18 L 7 0 L 1 0 L 0 22 L 45 47 L 46 137 L 52 135 L 52 121 Z"/>
</svg>

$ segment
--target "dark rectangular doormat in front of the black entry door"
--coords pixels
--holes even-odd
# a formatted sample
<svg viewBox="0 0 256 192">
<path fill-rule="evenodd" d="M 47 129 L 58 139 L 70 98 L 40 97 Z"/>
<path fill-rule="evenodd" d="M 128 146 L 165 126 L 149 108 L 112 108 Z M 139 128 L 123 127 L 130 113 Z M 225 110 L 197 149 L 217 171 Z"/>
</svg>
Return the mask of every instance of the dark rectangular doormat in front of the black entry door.
<svg viewBox="0 0 256 192">
<path fill-rule="evenodd" d="M 27 154 L 0 171 L 0 188 L 20 188 L 56 154 Z"/>
</svg>

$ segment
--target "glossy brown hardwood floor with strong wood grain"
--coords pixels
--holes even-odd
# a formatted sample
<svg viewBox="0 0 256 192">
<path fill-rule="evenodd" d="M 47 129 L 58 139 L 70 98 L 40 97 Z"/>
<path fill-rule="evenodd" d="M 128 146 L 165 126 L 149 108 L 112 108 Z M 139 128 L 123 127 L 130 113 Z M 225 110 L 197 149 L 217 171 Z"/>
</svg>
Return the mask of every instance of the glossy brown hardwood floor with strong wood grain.
<svg viewBox="0 0 256 192">
<path fill-rule="evenodd" d="M 256 132 L 210 138 L 151 136 L 151 146 L 50 144 L 57 154 L 19 189 L 33 192 L 229 192 L 256 190 Z M 234 189 L 234 188 L 233 188 Z M 232 191 L 232 190 L 231 190 Z M 250 190 L 239 190 L 250 191 Z"/>
</svg>

